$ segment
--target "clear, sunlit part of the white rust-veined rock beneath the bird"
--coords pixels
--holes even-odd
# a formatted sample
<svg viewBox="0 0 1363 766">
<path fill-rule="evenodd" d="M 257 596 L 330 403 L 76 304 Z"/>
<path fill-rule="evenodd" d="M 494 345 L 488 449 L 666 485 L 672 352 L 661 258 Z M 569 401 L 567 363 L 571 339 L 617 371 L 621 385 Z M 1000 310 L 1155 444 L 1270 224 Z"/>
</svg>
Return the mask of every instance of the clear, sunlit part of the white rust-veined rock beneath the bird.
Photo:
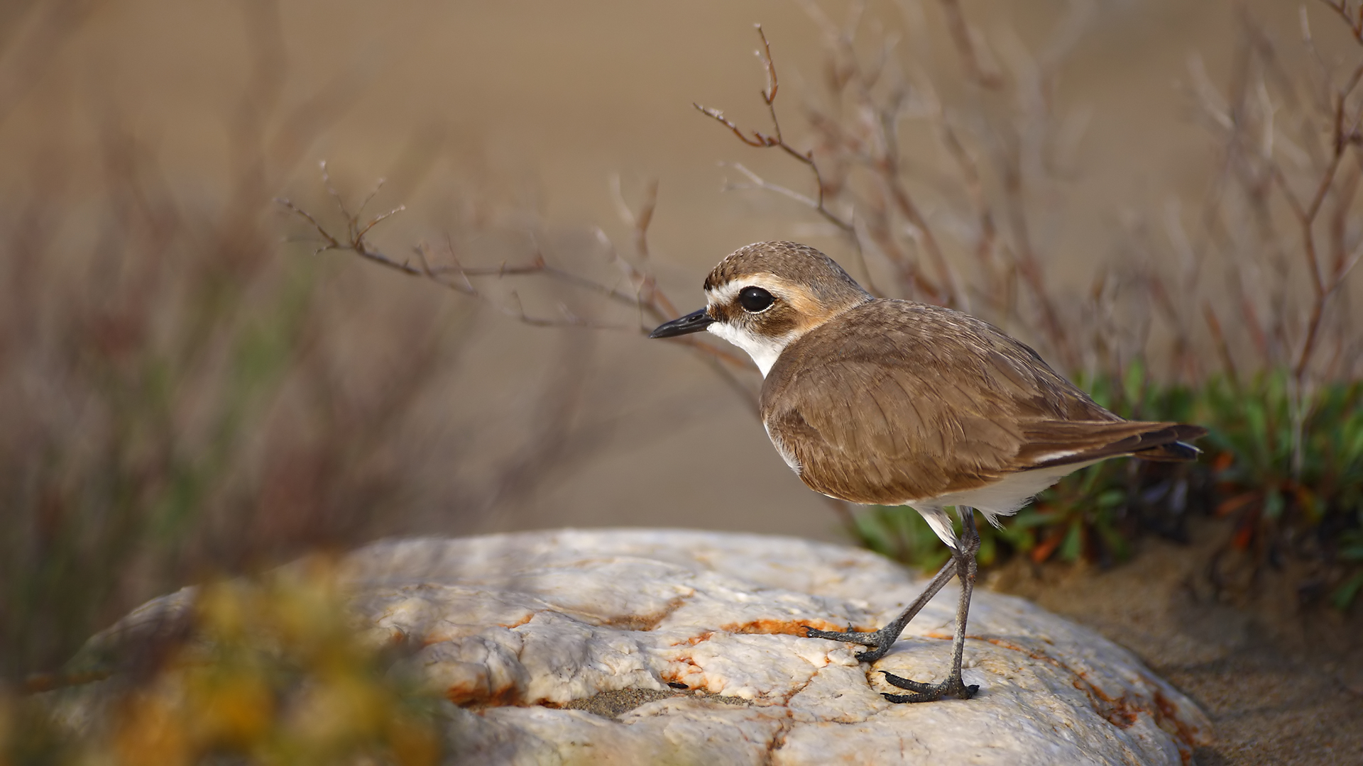
<svg viewBox="0 0 1363 766">
<path fill-rule="evenodd" d="M 946 675 L 958 592 L 859 664 L 859 647 L 801 626 L 879 627 L 919 582 L 855 548 L 562 530 L 384 541 L 341 572 L 372 638 L 413 649 L 405 662 L 458 706 L 459 763 L 1146 765 L 1189 762 L 1210 739 L 1204 714 L 1130 652 L 979 589 L 965 649 L 975 699 L 886 702 L 897 690 L 879 671 Z"/>
</svg>

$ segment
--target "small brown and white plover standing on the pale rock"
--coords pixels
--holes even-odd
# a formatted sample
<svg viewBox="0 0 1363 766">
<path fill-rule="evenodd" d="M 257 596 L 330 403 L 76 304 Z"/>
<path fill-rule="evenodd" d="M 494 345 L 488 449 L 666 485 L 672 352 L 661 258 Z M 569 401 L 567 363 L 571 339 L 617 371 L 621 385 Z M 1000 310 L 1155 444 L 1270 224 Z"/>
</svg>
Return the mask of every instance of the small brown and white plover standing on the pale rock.
<svg viewBox="0 0 1363 766">
<path fill-rule="evenodd" d="M 968 699 L 961 680 L 965 623 L 980 538 L 991 523 L 1060 477 L 1134 455 L 1191 461 L 1198 425 L 1112 414 L 998 327 L 936 305 L 876 298 L 822 252 L 795 243 L 735 251 L 705 279 L 706 307 L 649 337 L 707 330 L 762 371 L 762 424 L 811 489 L 852 503 L 910 506 L 951 548 L 951 560 L 890 624 L 875 632 L 806 628 L 814 638 L 870 646 L 875 662 L 904 626 L 955 575 L 951 671 L 938 684 L 885 673 L 909 694 L 891 702 Z M 961 519 L 957 536 L 947 515 Z"/>
</svg>

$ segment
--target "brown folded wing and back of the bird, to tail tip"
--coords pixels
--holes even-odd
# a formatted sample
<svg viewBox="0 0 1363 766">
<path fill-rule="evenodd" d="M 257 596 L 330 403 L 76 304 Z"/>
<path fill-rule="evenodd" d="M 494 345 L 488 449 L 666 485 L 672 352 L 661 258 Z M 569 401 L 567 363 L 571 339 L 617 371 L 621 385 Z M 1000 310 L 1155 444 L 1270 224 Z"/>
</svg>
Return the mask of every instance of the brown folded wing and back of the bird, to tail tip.
<svg viewBox="0 0 1363 766">
<path fill-rule="evenodd" d="M 762 420 L 806 484 L 855 503 L 1133 453 L 1190 459 L 1179 442 L 1204 433 L 1119 418 L 985 322 L 883 300 L 786 346 L 763 383 Z"/>
</svg>

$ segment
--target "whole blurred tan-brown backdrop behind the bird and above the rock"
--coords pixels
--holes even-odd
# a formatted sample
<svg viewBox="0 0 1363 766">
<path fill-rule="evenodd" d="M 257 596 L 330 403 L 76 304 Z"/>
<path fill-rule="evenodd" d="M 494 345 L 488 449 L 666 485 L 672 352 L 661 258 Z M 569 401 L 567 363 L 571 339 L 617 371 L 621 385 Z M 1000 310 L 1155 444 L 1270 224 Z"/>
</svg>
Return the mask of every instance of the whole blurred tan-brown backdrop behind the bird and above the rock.
<svg viewBox="0 0 1363 766">
<path fill-rule="evenodd" d="M 980 313 L 1127 405 L 1285 369 L 1298 465 L 1303 402 L 1360 372 L 1359 44 L 1322 3 L 1311 45 L 1276 3 L 361 11 L 3 11 L 0 677 L 386 533 L 831 536 L 733 395 L 755 373 L 634 333 L 748 241 Z M 773 134 L 756 19 L 822 184 L 690 106 Z M 273 203 L 335 236 L 380 176 L 365 210 L 406 210 L 339 244 L 418 279 Z"/>
</svg>

